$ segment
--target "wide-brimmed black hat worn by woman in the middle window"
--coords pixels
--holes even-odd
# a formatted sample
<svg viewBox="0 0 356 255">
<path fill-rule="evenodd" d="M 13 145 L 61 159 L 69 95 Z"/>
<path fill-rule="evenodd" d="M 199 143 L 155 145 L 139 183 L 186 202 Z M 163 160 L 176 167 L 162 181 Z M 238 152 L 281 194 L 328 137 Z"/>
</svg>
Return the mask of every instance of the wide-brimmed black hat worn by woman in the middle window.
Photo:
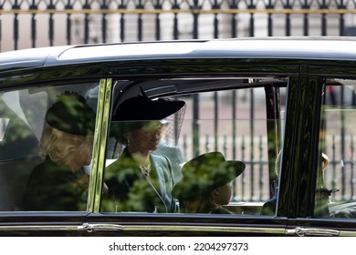
<svg viewBox="0 0 356 255">
<path fill-rule="evenodd" d="M 131 97 L 114 108 L 111 117 L 110 137 L 122 139 L 122 135 L 141 128 L 145 123 L 160 121 L 185 107 L 185 102 L 145 96 Z"/>
</svg>

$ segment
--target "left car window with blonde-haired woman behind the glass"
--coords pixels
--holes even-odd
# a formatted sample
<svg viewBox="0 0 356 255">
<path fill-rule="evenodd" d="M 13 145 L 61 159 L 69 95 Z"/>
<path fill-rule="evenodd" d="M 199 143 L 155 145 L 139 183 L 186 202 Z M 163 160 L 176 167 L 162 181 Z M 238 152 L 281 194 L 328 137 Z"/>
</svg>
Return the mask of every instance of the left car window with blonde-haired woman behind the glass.
<svg viewBox="0 0 356 255">
<path fill-rule="evenodd" d="M 0 93 L 1 211 L 87 210 L 98 85 Z"/>
</svg>

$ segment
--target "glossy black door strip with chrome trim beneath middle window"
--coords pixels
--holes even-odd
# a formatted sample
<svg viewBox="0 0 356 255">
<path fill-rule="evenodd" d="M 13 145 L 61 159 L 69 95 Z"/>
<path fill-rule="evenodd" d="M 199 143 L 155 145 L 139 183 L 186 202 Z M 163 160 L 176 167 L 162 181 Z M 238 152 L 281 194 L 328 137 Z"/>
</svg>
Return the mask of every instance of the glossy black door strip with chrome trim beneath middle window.
<svg viewBox="0 0 356 255">
<path fill-rule="evenodd" d="M 115 223 L 126 226 L 126 230 L 110 231 L 108 236 L 271 236 L 271 233 L 263 233 L 257 226 L 264 226 L 271 229 L 280 230 L 274 236 L 281 236 L 287 225 L 287 219 L 256 219 L 254 217 L 246 218 L 228 218 L 218 215 L 130 215 L 130 214 L 91 214 L 87 222 Z M 131 230 L 131 226 L 150 226 L 152 230 Z M 163 227 L 163 229 L 154 229 Z M 177 227 L 177 230 L 164 230 L 164 227 Z M 179 228 L 184 227 L 183 230 Z M 217 227 L 218 231 L 206 230 L 186 230 L 185 228 L 194 227 Z M 232 228 L 232 230 L 229 230 Z M 234 229 L 235 228 L 235 229 Z M 254 229 L 246 231 L 246 229 Z M 97 233 L 98 234 L 98 233 Z M 80 233 L 80 235 L 87 235 Z"/>
</svg>

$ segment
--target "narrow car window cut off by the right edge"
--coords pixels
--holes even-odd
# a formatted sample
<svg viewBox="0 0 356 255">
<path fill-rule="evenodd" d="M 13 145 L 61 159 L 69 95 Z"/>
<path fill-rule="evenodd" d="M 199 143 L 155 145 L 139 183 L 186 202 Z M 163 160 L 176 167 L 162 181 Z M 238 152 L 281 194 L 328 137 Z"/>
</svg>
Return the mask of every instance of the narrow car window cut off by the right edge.
<svg viewBox="0 0 356 255">
<path fill-rule="evenodd" d="M 321 109 L 316 215 L 356 218 L 356 80 L 328 78 Z"/>
</svg>

